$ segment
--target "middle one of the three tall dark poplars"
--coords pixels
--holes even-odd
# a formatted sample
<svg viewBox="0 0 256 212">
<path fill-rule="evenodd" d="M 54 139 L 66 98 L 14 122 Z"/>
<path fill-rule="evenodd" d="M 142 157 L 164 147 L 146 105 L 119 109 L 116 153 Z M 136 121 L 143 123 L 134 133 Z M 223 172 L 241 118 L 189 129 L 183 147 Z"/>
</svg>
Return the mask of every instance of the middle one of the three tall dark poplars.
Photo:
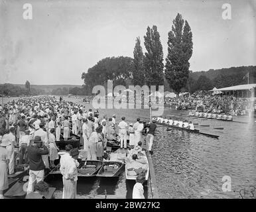
<svg viewBox="0 0 256 212">
<path fill-rule="evenodd" d="M 154 25 L 153 28 L 148 26 L 144 39 L 147 50 L 144 60 L 146 83 L 148 86 L 156 85 L 158 89 L 159 85 L 164 85 L 164 64 L 162 62 L 162 44 L 157 26 Z"/>
</svg>

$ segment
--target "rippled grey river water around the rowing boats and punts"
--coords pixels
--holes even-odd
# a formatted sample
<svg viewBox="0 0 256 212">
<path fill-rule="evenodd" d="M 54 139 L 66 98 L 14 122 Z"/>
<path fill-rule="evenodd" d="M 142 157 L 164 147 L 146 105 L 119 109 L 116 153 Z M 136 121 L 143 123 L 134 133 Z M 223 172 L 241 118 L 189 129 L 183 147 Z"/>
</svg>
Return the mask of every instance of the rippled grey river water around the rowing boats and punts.
<svg viewBox="0 0 256 212">
<path fill-rule="evenodd" d="M 82 99 L 64 100 L 82 103 Z M 92 108 L 92 105 L 86 105 Z M 116 114 L 119 123 L 122 116 L 127 123 L 135 123 L 137 117 L 149 119 L 149 109 L 99 109 L 99 114 L 111 117 Z M 188 111 L 164 109 L 164 115 L 187 114 Z M 153 164 L 160 198 L 255 198 L 256 187 L 256 125 L 254 119 L 235 118 L 229 123 L 216 120 L 190 119 L 200 125 L 202 132 L 220 135 L 219 139 L 202 134 L 172 129 L 158 125 L 153 144 Z M 214 127 L 224 127 L 215 130 Z M 223 191 L 222 178 L 231 180 L 231 191 Z M 62 179 L 54 176 L 49 181 L 56 187 L 56 198 L 62 197 Z M 119 178 L 85 178 L 78 180 L 78 198 L 103 198 L 104 192 L 112 198 L 131 198 L 134 182 Z M 251 192 L 252 193 L 251 193 Z M 145 186 L 147 195 L 147 187 Z"/>
</svg>

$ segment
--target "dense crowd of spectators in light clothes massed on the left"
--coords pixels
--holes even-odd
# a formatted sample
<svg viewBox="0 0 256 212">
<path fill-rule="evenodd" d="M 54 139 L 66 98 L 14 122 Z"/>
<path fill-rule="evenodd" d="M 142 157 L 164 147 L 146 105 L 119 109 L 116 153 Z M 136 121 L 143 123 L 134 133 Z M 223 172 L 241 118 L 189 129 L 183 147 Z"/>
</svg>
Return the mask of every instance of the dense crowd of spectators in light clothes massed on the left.
<svg viewBox="0 0 256 212">
<path fill-rule="evenodd" d="M 54 168 L 54 161 L 59 159 L 56 140 L 59 141 L 60 137 L 68 140 L 71 132 L 81 136 L 81 145 L 88 152 L 88 160 L 103 160 L 107 140 L 117 138 L 121 148 L 127 148 L 129 139 L 132 149 L 137 149 L 141 142 L 147 140 L 147 150 L 153 154 L 155 121 L 147 123 L 138 118 L 136 123 L 128 125 L 122 117 L 117 125 L 115 119 L 115 115 L 109 119 L 106 115 L 99 118 L 97 110 L 86 111 L 86 107 L 78 103 L 47 96 L 20 98 L 1 105 L 0 198 L 3 190 L 8 188 L 8 174 L 15 173 L 15 147 L 19 148 L 19 164 L 29 164 L 28 194 L 34 192 L 35 183 L 44 180 L 45 170 Z M 71 145 L 65 150 L 66 154 L 60 160 L 63 198 L 75 198 L 78 167 L 75 156 L 78 154 Z"/>
</svg>

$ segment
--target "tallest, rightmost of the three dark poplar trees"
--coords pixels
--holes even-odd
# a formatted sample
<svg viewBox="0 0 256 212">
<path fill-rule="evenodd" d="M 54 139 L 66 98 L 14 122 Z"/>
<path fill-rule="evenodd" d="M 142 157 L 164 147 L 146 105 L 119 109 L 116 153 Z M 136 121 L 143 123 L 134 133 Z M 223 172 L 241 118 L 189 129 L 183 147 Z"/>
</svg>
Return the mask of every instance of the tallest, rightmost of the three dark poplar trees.
<svg viewBox="0 0 256 212">
<path fill-rule="evenodd" d="M 190 26 L 187 21 L 184 23 L 182 15 L 178 13 L 172 23 L 172 30 L 168 33 L 165 77 L 178 95 L 188 81 L 188 60 L 192 56 L 193 42 Z"/>
</svg>

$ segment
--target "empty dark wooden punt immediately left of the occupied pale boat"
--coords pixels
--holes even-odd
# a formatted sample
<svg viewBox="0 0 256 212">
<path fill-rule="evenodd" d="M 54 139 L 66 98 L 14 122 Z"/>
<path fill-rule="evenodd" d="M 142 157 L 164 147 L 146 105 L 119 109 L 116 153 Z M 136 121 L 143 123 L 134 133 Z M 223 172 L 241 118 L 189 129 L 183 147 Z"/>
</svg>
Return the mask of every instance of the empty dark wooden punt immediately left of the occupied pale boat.
<svg viewBox="0 0 256 212">
<path fill-rule="evenodd" d="M 117 164 L 119 168 L 114 168 L 113 166 Z M 99 169 L 99 172 L 97 173 L 97 177 L 101 178 L 114 178 L 119 177 L 120 174 L 123 172 L 123 168 L 125 167 L 125 164 L 123 162 L 119 161 L 104 161 L 103 165 Z"/>
</svg>

